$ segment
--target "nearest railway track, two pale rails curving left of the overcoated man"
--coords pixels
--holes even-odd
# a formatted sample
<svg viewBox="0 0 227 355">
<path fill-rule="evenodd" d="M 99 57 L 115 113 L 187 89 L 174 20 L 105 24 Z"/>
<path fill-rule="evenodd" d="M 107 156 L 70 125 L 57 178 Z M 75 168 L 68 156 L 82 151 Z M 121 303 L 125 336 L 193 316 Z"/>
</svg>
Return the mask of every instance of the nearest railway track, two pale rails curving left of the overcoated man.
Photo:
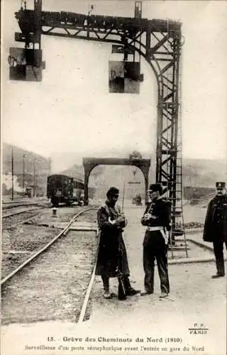
<svg viewBox="0 0 227 355">
<path fill-rule="evenodd" d="M 11 273 L 6 275 L 1 280 L 1 289 L 3 290 L 3 295 L 2 295 L 2 300 L 3 300 L 2 308 L 3 308 L 3 310 L 4 310 L 4 298 L 8 294 L 8 291 L 7 291 L 8 285 L 10 284 L 10 286 L 9 286 L 9 294 L 11 294 L 11 288 L 17 289 L 17 283 L 18 282 L 21 283 L 21 281 L 20 281 L 21 278 L 23 280 L 23 275 L 26 275 L 27 273 L 29 273 L 30 268 L 31 269 L 35 269 L 35 270 L 37 269 L 37 271 L 39 272 L 39 267 L 37 266 L 37 263 L 39 263 L 39 265 L 40 265 L 40 259 L 41 258 L 44 258 L 43 259 L 44 262 L 49 263 L 47 256 L 50 254 L 50 258 L 51 258 L 51 252 L 53 252 L 53 253 L 58 252 L 58 249 L 56 249 L 57 248 L 57 246 L 56 246 L 57 242 L 61 243 L 59 245 L 62 246 L 62 247 L 60 247 L 60 249 L 62 248 L 63 253 L 65 253 L 65 250 L 69 250 L 69 247 L 68 246 L 64 247 L 65 245 L 63 245 L 63 243 L 67 244 L 67 239 L 65 239 L 65 237 L 68 234 L 72 234 L 72 231 L 71 231 L 72 224 L 74 222 L 77 222 L 79 217 L 82 217 L 82 215 L 84 215 L 87 212 L 92 211 L 92 210 L 96 211 L 96 207 L 89 207 L 89 208 L 83 209 L 82 211 L 79 211 L 77 214 L 75 214 L 74 217 L 72 217 L 72 219 L 70 220 L 70 222 L 67 223 L 65 228 L 62 229 L 62 231 L 60 231 L 59 234 L 57 234 L 57 236 L 52 238 L 47 244 L 45 244 L 45 246 L 43 246 L 43 248 L 41 248 L 38 251 L 35 251 L 35 253 L 33 253 L 29 258 L 26 258 L 26 261 L 24 261 L 19 266 L 17 266 L 13 271 L 11 271 Z M 78 233 L 78 232 L 76 232 L 76 233 Z M 92 230 L 92 233 L 96 234 L 96 232 L 94 232 L 94 229 Z M 67 238 L 71 238 L 70 243 L 72 243 L 72 245 L 73 245 L 74 244 L 74 240 L 76 239 L 76 236 L 75 235 L 73 235 L 73 236 L 71 235 L 71 236 L 67 236 Z M 91 239 L 91 237 L 89 237 L 89 240 L 90 239 Z M 96 244 L 97 239 L 95 239 L 95 241 L 94 241 L 94 237 L 93 237 L 92 240 L 93 240 L 92 243 Z M 94 245 L 91 246 L 91 242 L 87 241 L 87 239 L 84 240 L 84 241 L 85 241 L 85 245 L 89 249 L 91 249 L 91 248 L 93 250 L 96 249 L 96 245 L 95 246 Z M 79 243 L 79 242 L 81 243 L 82 241 L 80 241 L 78 239 L 77 243 Z M 55 247 L 55 251 L 51 251 L 51 248 L 53 248 L 53 247 Z M 84 251 L 84 247 L 81 247 L 79 249 L 79 253 L 81 255 L 84 254 L 86 256 L 89 253 L 91 254 L 91 251 L 86 252 L 86 251 Z M 92 260 L 92 263 L 94 263 L 94 252 L 93 252 L 91 260 Z M 86 263 L 87 263 L 87 261 L 86 261 Z M 91 262 L 89 264 L 91 264 Z M 87 266 L 88 266 L 88 263 L 87 263 Z M 89 306 L 89 297 L 90 297 L 90 292 L 92 290 L 92 283 L 94 281 L 94 265 L 93 265 L 93 271 L 89 270 L 89 272 L 87 271 L 87 269 L 88 269 L 87 266 L 85 268 L 86 269 L 86 272 L 85 272 L 86 275 L 83 276 L 82 275 L 82 270 L 79 271 L 81 273 L 81 276 L 80 276 L 80 281 L 78 281 L 78 282 L 83 283 L 83 286 L 81 286 L 80 290 L 77 290 L 77 293 L 79 293 L 79 300 L 80 300 L 79 301 L 79 305 L 77 305 L 77 308 L 79 308 L 79 311 L 77 309 L 77 311 L 76 311 L 77 315 L 75 315 L 75 318 L 76 318 L 77 322 L 83 322 L 83 320 L 87 317 L 87 309 L 88 309 L 88 306 Z M 74 266 L 74 267 L 76 267 L 76 266 Z M 89 266 L 89 268 L 90 268 L 90 266 Z M 89 273 L 89 282 L 88 282 L 88 273 Z M 27 278 L 27 276 L 26 276 L 26 278 Z M 86 293 L 85 293 L 85 289 L 84 289 L 84 282 L 85 282 L 84 278 L 87 278 Z M 23 281 L 22 281 L 22 283 L 23 283 Z M 81 293 L 83 294 L 83 297 L 80 295 Z M 14 295 L 14 297 L 15 297 L 15 295 Z M 82 298 L 83 298 L 83 302 L 82 302 Z"/>
</svg>

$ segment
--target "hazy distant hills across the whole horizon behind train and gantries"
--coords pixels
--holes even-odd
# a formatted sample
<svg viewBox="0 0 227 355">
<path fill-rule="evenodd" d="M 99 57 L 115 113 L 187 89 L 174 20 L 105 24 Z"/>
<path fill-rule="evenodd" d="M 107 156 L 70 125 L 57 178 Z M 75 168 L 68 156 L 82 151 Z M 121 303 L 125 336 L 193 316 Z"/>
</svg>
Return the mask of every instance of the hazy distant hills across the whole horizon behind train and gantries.
<svg viewBox="0 0 227 355">
<path fill-rule="evenodd" d="M 46 191 L 46 180 L 50 173 L 62 173 L 70 175 L 76 179 L 84 180 L 84 167 L 82 158 L 86 156 L 102 158 L 128 158 L 131 151 L 108 151 L 94 153 L 90 152 L 71 152 L 53 153 L 51 158 L 45 158 L 31 151 L 3 143 L 3 192 L 11 193 L 11 153 L 13 149 L 13 170 L 14 188 L 21 192 L 23 186 L 23 161 L 25 171 L 25 187 L 34 187 L 34 163 L 35 163 L 35 187 L 41 192 Z M 155 154 L 140 152 L 143 158 L 150 158 L 149 183 L 155 180 Z M 227 181 L 226 163 L 223 160 L 207 159 L 182 159 L 182 180 L 183 186 L 191 187 L 214 187 L 218 180 Z M 70 168 L 69 168 L 70 167 Z M 134 175 L 135 174 L 135 175 Z M 126 197 L 131 198 L 135 193 L 144 195 L 143 174 L 138 168 L 120 165 L 98 165 L 89 178 L 89 186 L 96 187 L 96 195 L 103 197 L 110 186 L 117 186 L 123 189 L 125 182 Z M 128 184 L 128 182 L 138 182 L 138 184 Z"/>
</svg>

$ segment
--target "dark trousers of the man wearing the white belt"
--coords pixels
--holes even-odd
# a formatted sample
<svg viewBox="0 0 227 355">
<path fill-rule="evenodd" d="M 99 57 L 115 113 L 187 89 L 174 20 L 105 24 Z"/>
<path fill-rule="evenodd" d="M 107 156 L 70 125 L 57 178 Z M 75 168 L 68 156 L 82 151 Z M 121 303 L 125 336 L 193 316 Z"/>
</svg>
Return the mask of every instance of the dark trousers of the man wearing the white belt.
<svg viewBox="0 0 227 355">
<path fill-rule="evenodd" d="M 167 249 L 165 239 L 160 231 L 146 231 L 143 241 L 143 269 L 145 272 L 144 287 L 148 293 L 154 292 L 155 259 L 160 277 L 162 293 L 170 293 L 170 282 L 167 266 Z"/>
</svg>

